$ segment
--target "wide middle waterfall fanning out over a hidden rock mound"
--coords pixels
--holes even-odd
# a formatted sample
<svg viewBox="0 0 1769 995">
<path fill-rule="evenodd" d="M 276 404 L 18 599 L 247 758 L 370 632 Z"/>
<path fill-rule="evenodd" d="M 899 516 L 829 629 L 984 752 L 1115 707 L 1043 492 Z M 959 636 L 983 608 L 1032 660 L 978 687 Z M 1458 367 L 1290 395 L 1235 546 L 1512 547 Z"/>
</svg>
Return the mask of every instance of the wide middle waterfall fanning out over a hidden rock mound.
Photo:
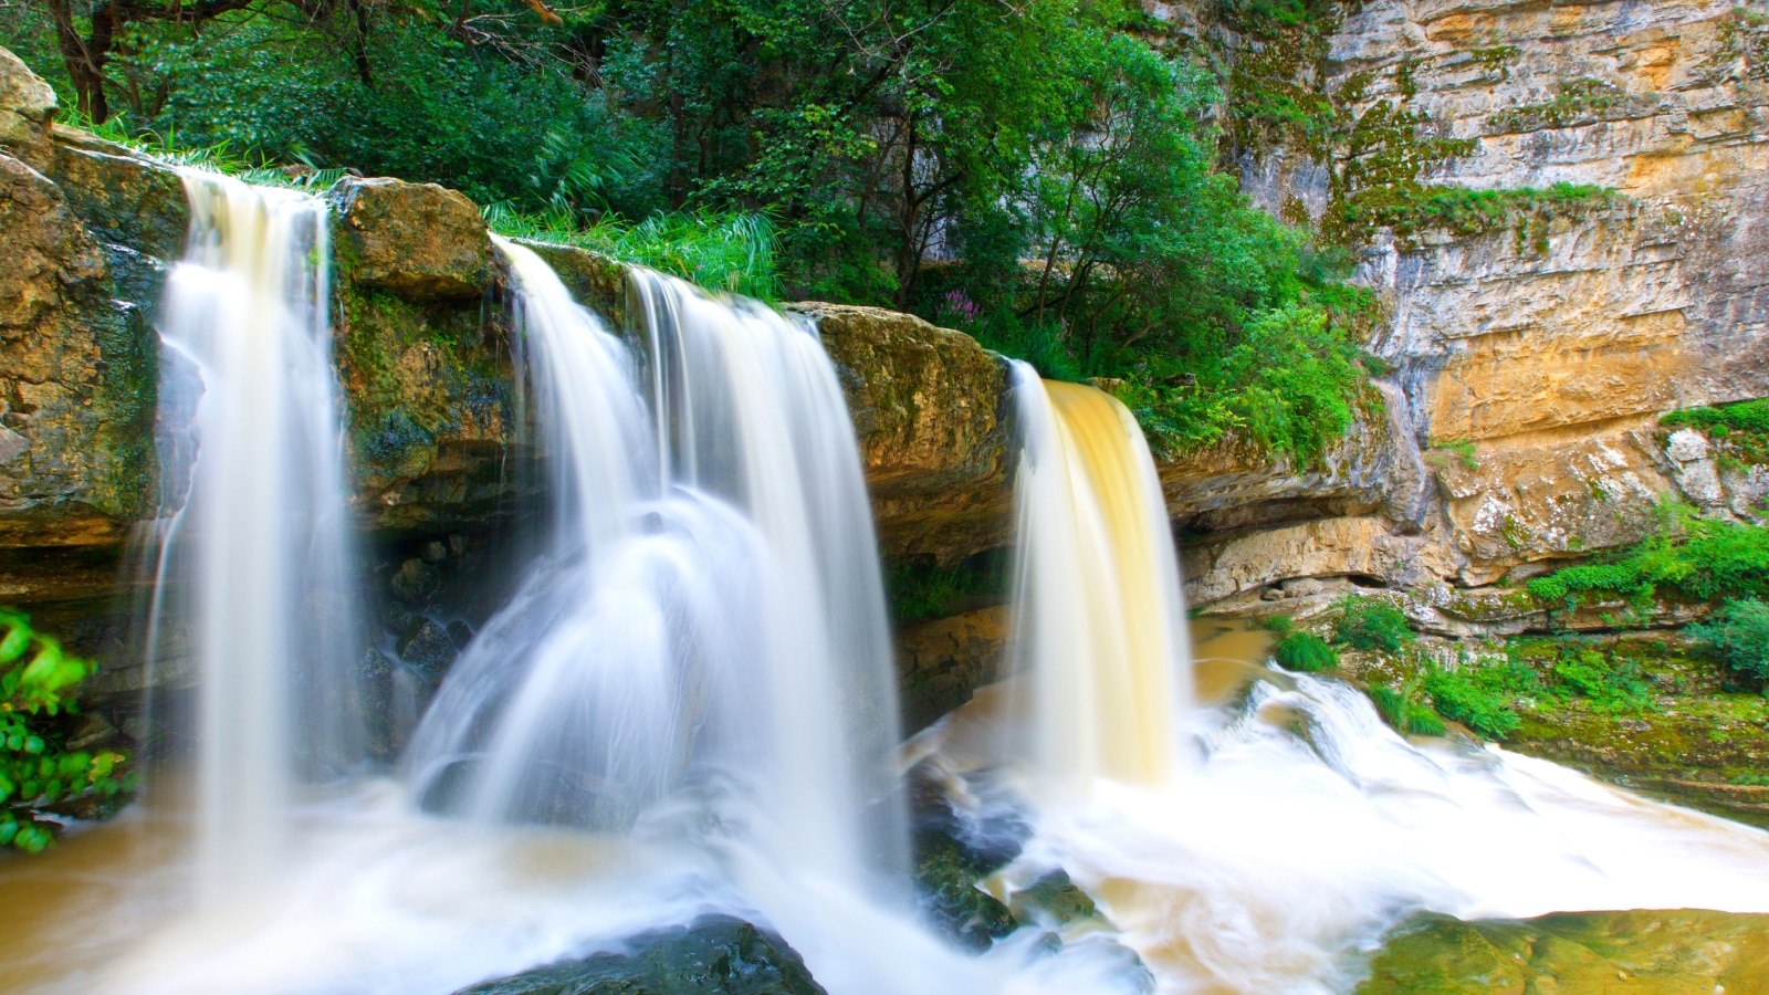
<svg viewBox="0 0 1769 995">
<path fill-rule="evenodd" d="M 814 329 L 635 271 L 630 345 L 499 250 L 550 552 L 425 717 L 419 797 L 616 830 L 693 798 L 828 878 L 899 864 L 900 820 L 867 811 L 897 740 L 870 508 Z"/>
</svg>

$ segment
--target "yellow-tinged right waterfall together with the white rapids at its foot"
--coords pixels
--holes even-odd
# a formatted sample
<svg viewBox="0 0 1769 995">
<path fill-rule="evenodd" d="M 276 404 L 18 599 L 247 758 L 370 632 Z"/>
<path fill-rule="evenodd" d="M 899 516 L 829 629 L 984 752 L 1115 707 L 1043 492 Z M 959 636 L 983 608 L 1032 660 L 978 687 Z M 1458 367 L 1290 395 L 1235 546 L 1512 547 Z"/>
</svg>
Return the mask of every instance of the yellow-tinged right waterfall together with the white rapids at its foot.
<svg viewBox="0 0 1769 995">
<path fill-rule="evenodd" d="M 1061 869 L 1160 991 L 1344 991 L 1357 949 L 1421 908 L 1769 910 L 1760 830 L 1493 747 L 1410 744 L 1332 680 L 1254 669 L 1238 703 L 1191 705 L 1134 420 L 1024 365 L 1015 393 L 1014 667 L 909 752 L 961 811 L 1031 827 L 998 896 Z"/>
</svg>

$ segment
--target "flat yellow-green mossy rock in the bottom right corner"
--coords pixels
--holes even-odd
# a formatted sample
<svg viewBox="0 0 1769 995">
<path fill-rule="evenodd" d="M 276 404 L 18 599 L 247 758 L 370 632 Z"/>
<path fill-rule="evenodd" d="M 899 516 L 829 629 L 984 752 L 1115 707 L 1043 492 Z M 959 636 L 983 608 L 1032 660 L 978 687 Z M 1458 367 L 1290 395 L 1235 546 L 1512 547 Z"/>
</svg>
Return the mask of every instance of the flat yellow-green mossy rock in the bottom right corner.
<svg viewBox="0 0 1769 995">
<path fill-rule="evenodd" d="M 1357 990 L 1769 991 L 1769 915 L 1682 908 L 1463 922 L 1424 914 L 1389 933 Z"/>
</svg>

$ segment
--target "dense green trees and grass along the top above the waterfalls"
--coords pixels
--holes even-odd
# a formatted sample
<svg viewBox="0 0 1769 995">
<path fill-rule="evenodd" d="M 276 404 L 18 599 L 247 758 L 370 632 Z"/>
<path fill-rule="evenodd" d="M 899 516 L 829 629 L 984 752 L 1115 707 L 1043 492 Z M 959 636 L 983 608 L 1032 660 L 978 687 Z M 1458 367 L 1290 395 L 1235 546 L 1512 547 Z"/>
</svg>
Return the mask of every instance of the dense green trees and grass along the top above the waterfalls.
<svg viewBox="0 0 1769 995">
<path fill-rule="evenodd" d="M 1208 58 L 1125 0 L 239 2 L 113 5 L 115 39 L 88 12 L 58 39 L 19 5 L 0 28 L 67 103 L 110 94 L 108 135 L 172 158 L 442 182 L 506 234 L 770 299 L 938 319 L 964 290 L 961 328 L 1049 377 L 1118 382 L 1164 453 L 1231 432 L 1316 459 L 1376 402 L 1357 347 L 1380 315 L 1344 285 L 1352 257 L 1240 195 Z M 1270 39 L 1277 78 L 1325 58 L 1337 5 L 1214 14 Z M 110 44 L 97 81 L 81 39 Z M 1229 129 L 1297 126 L 1383 170 L 1458 147 L 1413 110 L 1346 133 L 1336 104 L 1293 96 Z"/>
</svg>

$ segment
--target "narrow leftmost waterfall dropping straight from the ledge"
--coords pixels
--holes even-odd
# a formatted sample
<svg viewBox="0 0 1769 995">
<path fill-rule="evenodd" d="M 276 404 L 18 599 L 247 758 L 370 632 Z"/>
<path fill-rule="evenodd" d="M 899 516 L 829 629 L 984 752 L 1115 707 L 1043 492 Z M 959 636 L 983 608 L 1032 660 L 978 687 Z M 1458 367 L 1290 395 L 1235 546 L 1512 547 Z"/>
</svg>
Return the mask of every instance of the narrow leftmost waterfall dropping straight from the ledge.
<svg viewBox="0 0 1769 995">
<path fill-rule="evenodd" d="M 262 887 L 297 767 L 361 756 L 327 220 L 306 195 L 189 170 L 166 283 L 163 590 L 196 660 L 198 843 L 212 898 Z"/>
</svg>

